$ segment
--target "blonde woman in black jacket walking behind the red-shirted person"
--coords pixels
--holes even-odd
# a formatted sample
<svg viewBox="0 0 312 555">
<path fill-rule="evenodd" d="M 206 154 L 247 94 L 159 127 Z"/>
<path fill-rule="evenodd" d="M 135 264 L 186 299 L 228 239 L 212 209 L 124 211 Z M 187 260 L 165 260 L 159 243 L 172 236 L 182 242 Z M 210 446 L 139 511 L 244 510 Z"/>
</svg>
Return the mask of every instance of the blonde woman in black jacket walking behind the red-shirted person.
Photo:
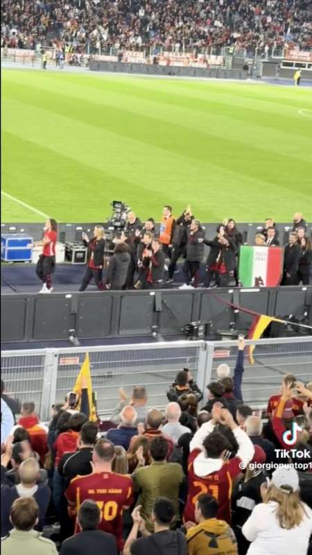
<svg viewBox="0 0 312 555">
<path fill-rule="evenodd" d="M 95 226 L 94 237 L 92 237 L 92 239 L 89 239 L 87 234 L 83 233 L 83 244 L 88 248 L 87 268 L 85 269 L 83 282 L 79 291 L 85 291 L 92 278 L 94 278 L 98 289 L 103 291 L 102 270 L 104 263 L 105 239 L 104 228 L 102 225 Z"/>
</svg>

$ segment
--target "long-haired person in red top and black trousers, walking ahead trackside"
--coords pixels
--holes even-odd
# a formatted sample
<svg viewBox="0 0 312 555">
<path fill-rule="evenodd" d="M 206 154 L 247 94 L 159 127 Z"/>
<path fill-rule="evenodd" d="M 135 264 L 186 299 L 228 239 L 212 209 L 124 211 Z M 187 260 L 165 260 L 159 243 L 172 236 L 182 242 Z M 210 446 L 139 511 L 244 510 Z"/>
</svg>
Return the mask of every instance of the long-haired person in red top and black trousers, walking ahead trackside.
<svg viewBox="0 0 312 555">
<path fill-rule="evenodd" d="M 55 245 L 58 239 L 58 224 L 56 220 L 49 218 L 44 225 L 44 236 L 41 241 L 36 241 L 35 245 L 42 245 L 42 255 L 40 255 L 36 273 L 43 282 L 40 293 L 51 293 L 53 291 L 51 274 L 55 268 Z"/>
</svg>

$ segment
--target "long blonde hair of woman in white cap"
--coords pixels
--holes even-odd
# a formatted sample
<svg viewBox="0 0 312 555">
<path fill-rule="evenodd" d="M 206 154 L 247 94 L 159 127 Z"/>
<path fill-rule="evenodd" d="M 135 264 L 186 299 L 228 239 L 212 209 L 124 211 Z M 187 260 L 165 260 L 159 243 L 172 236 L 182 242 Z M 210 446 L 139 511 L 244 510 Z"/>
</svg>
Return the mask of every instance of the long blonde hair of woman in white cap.
<svg viewBox="0 0 312 555">
<path fill-rule="evenodd" d="M 269 501 L 275 501 L 278 506 L 275 511 L 279 526 L 286 530 L 291 530 L 296 526 L 299 526 L 306 511 L 304 511 L 304 505 L 300 501 L 299 493 L 297 491 L 292 491 L 290 493 L 284 493 L 279 488 L 270 484 L 268 490 L 264 495 L 264 503 Z"/>
</svg>

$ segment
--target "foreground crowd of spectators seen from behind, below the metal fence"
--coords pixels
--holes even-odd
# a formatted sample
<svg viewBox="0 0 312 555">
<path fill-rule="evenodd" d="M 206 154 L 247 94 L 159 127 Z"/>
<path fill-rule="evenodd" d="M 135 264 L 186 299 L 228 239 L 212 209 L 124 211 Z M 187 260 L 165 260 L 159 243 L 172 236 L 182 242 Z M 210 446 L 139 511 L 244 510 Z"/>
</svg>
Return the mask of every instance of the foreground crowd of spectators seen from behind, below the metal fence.
<svg viewBox="0 0 312 555">
<path fill-rule="evenodd" d="M 105 422 L 85 384 L 43 423 L 1 383 L 3 554 L 311 555 L 312 383 L 284 375 L 262 415 L 237 346 L 206 392 L 184 368 L 164 411 L 135 386 Z"/>
</svg>

